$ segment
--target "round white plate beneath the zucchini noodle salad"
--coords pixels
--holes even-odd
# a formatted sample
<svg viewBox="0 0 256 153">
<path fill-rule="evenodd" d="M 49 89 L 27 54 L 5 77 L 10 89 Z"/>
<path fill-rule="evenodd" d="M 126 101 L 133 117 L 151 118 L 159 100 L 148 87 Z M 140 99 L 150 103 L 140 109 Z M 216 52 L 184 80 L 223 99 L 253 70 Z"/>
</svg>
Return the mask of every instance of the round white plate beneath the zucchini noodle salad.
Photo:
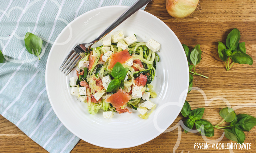
<svg viewBox="0 0 256 153">
<path fill-rule="evenodd" d="M 147 120 L 140 119 L 135 110 L 132 114 L 115 113 L 108 120 L 102 117 L 102 112 L 89 114 L 86 104 L 70 95 L 69 79 L 75 76 L 75 70 L 66 76 L 59 71 L 60 64 L 76 44 L 95 39 L 127 9 L 127 6 L 100 7 L 73 20 L 55 40 L 46 64 L 47 94 L 59 120 L 77 137 L 105 148 L 129 148 L 154 139 L 176 119 L 187 96 L 188 64 L 179 39 L 160 19 L 142 10 L 113 32 L 123 30 L 125 36 L 136 34 L 139 41 L 153 38 L 161 44 L 160 62 L 152 82 L 158 95 L 152 99 L 157 104 L 156 110 Z M 62 43 L 65 41 L 68 43 Z"/>
</svg>

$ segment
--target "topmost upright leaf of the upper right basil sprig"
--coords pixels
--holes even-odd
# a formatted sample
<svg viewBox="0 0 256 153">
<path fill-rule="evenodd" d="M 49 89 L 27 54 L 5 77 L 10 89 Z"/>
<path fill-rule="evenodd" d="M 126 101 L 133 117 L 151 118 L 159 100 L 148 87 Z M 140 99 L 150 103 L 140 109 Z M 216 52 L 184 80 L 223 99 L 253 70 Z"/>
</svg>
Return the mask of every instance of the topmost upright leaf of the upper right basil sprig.
<svg viewBox="0 0 256 153">
<path fill-rule="evenodd" d="M 230 50 L 237 50 L 237 46 L 240 40 L 240 31 L 238 29 L 233 29 L 227 36 L 226 45 Z"/>
</svg>

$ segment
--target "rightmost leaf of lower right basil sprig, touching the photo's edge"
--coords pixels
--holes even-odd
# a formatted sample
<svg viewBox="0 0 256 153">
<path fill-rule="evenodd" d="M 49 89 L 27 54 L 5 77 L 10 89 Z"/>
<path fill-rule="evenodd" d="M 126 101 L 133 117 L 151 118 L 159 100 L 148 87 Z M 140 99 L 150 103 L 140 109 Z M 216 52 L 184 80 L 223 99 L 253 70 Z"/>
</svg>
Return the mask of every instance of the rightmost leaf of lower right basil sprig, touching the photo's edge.
<svg viewBox="0 0 256 153">
<path fill-rule="evenodd" d="M 243 131 L 250 131 L 256 125 L 256 118 L 248 114 L 239 114 L 237 116 L 237 122 L 233 125 Z"/>
</svg>

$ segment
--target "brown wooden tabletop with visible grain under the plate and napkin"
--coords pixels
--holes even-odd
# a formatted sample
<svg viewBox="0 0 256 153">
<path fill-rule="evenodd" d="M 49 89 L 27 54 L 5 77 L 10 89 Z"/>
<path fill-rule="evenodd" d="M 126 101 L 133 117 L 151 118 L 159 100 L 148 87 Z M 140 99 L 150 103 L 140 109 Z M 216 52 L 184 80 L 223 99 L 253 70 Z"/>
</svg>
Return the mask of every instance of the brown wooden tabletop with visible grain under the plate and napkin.
<svg viewBox="0 0 256 153">
<path fill-rule="evenodd" d="M 241 32 L 240 42 L 246 43 L 246 52 L 256 62 L 256 0 L 201 0 L 202 10 L 194 12 L 184 19 L 175 19 L 166 11 L 165 0 L 153 0 L 145 11 L 155 15 L 165 22 L 177 35 L 182 44 L 193 48 L 200 44 L 202 59 L 197 65 L 197 72 L 209 77 L 205 79 L 194 75 L 194 87 L 201 88 L 208 100 L 221 96 L 226 98 L 231 106 L 256 101 L 256 64 L 240 65 L 234 64 L 229 71 L 226 71 L 225 64 L 218 57 L 217 41 L 225 42 L 227 34 L 238 28 Z M 209 120 L 213 125 L 221 122 L 222 118 L 218 112 L 226 107 L 222 100 L 215 100 L 209 106 L 205 106 L 203 96 L 199 91 L 191 91 L 187 96 L 191 108 L 205 107 L 203 119 Z M 237 114 L 249 114 L 256 117 L 254 107 L 245 107 L 236 110 Z M 174 123 L 176 125 L 184 117 L 180 114 Z M 128 149 L 106 149 L 91 145 L 80 140 L 72 153 L 76 152 L 173 152 L 174 145 L 178 138 L 178 128 L 162 133 L 157 138 L 143 145 Z M 221 137 L 223 131 L 214 131 L 211 140 Z M 255 152 L 256 149 L 256 128 L 245 132 L 245 142 L 251 142 L 252 150 L 233 150 L 234 152 Z M 204 142 L 199 133 L 184 133 L 181 130 L 181 142 L 176 152 L 229 152 L 228 150 L 195 150 L 196 142 Z M 221 143 L 231 142 L 225 137 Z M 27 135 L 20 131 L 14 124 L 0 116 L 0 152 L 47 152 Z"/>
</svg>

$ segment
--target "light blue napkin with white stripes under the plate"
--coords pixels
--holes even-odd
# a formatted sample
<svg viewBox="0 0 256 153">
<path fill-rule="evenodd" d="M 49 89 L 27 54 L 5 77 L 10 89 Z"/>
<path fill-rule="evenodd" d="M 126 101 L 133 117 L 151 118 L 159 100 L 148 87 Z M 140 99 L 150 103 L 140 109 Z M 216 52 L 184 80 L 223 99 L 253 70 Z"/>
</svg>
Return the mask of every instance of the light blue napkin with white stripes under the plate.
<svg viewBox="0 0 256 153">
<path fill-rule="evenodd" d="M 45 66 L 54 40 L 69 22 L 97 7 L 137 0 L 3 0 L 0 5 L 0 114 L 51 153 L 69 153 L 79 138 L 55 115 L 45 89 Z M 144 10 L 145 6 L 142 8 Z M 25 48 L 31 32 L 43 39 L 41 60 Z"/>
</svg>

